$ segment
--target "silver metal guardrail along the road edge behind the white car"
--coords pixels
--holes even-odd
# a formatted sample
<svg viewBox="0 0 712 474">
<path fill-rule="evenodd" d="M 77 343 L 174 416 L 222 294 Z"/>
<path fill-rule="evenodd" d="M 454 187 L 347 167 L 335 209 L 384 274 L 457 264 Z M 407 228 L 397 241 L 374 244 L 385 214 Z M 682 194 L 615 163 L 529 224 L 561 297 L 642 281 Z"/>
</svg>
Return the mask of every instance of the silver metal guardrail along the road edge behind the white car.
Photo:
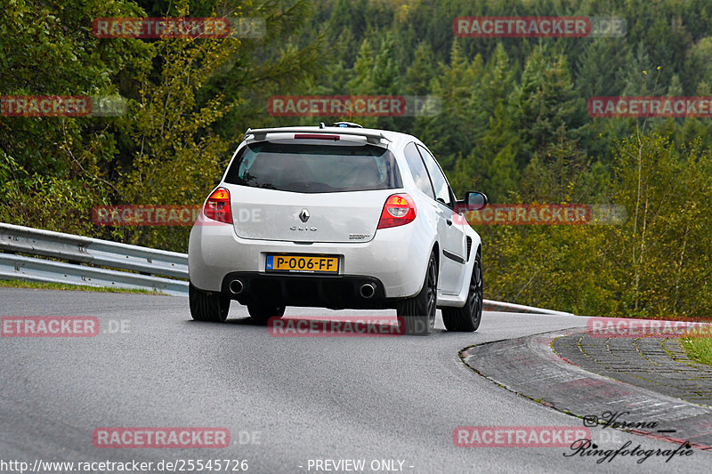
<svg viewBox="0 0 712 474">
<path fill-rule="evenodd" d="M 188 295 L 188 255 L 109 240 L 74 236 L 0 223 L 0 279 L 22 279 L 68 285 L 143 289 Z M 49 261 L 12 253 L 28 253 L 69 261 Z M 82 263 L 95 265 L 82 265 Z M 110 267 L 101 269 L 96 266 Z M 133 270 L 129 273 L 115 269 Z M 182 280 L 165 277 L 182 278 Z M 484 300 L 486 311 L 572 316 L 553 309 Z"/>
</svg>

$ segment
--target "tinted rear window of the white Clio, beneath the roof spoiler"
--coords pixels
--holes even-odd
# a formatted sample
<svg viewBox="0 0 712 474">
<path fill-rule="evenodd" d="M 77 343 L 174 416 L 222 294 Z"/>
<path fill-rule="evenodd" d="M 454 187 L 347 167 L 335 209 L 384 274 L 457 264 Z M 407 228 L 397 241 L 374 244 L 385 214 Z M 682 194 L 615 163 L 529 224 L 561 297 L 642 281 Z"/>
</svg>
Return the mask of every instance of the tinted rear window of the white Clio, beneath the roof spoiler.
<svg viewBox="0 0 712 474">
<path fill-rule="evenodd" d="M 329 193 L 401 188 L 388 149 L 375 145 L 306 145 L 258 141 L 232 161 L 225 181 L 253 188 Z"/>
</svg>

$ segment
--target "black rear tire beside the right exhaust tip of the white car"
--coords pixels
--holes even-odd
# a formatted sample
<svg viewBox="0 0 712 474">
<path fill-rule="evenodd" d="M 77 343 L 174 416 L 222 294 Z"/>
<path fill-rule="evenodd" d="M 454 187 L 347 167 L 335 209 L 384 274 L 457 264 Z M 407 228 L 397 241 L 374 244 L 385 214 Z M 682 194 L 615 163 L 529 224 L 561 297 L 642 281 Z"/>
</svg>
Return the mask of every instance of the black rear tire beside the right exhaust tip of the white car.
<svg viewBox="0 0 712 474">
<path fill-rule="evenodd" d="M 438 261 L 435 253 L 431 253 L 423 288 L 417 295 L 400 301 L 396 306 L 398 316 L 402 317 L 402 324 L 405 325 L 405 333 L 424 336 L 433 333 L 437 304 Z"/>
</svg>

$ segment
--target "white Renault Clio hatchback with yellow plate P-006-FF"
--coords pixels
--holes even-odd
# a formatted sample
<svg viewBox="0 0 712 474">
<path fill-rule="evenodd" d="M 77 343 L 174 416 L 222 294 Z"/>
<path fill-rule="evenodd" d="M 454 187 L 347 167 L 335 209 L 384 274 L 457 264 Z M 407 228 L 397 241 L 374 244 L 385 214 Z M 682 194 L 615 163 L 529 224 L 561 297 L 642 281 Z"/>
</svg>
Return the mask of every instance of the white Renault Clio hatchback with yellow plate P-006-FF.
<svg viewBox="0 0 712 474">
<path fill-rule="evenodd" d="M 190 232 L 190 313 L 231 300 L 264 322 L 286 306 L 396 309 L 406 333 L 474 331 L 481 239 L 417 138 L 360 125 L 247 130 Z"/>
</svg>

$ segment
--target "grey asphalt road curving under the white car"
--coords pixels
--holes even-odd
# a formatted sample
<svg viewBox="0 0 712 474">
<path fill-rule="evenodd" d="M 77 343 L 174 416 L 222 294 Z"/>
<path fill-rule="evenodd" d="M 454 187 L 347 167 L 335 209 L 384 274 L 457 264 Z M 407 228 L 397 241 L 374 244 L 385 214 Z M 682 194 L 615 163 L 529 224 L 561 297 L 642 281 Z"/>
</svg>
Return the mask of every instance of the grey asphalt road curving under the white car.
<svg viewBox="0 0 712 474">
<path fill-rule="evenodd" d="M 287 309 L 287 316 L 345 314 L 366 313 Z M 248 472 L 277 473 L 333 472 L 315 470 L 315 460 L 363 459 L 365 472 L 400 460 L 407 473 L 530 473 L 701 472 L 712 459 L 695 451 L 667 463 L 619 456 L 597 464 L 565 456 L 566 447 L 454 446 L 458 426 L 581 427 L 474 374 L 457 354 L 472 344 L 583 327 L 584 317 L 487 312 L 476 333 L 447 333 L 438 317 L 436 333 L 425 338 L 278 338 L 247 324 L 235 302 L 218 325 L 193 322 L 186 298 L 19 289 L 0 289 L 0 316 L 93 316 L 101 327 L 88 338 L 0 338 L 4 462 L 232 459 L 247 460 Z M 123 331 L 109 331 L 121 324 Z M 98 448 L 92 435 L 99 427 L 224 427 L 231 446 Z M 606 449 L 628 440 L 676 447 L 611 429 L 596 429 L 594 440 Z"/>
</svg>

